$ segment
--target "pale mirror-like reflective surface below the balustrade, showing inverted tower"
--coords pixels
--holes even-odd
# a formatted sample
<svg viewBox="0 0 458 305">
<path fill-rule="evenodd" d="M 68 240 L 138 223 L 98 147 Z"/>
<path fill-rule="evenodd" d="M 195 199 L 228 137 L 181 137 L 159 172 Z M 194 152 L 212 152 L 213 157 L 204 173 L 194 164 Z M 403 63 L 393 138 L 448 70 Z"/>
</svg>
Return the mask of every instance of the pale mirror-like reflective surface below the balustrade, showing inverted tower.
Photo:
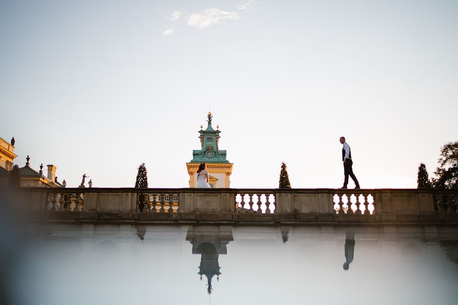
<svg viewBox="0 0 458 305">
<path fill-rule="evenodd" d="M 212 290 L 212 304 L 231 305 L 458 300 L 458 241 L 426 239 L 419 230 L 389 237 L 318 226 L 84 230 L 37 228 L 8 278 L 15 305 L 203 304 Z M 351 272 L 342 269 L 344 256 Z"/>
</svg>

